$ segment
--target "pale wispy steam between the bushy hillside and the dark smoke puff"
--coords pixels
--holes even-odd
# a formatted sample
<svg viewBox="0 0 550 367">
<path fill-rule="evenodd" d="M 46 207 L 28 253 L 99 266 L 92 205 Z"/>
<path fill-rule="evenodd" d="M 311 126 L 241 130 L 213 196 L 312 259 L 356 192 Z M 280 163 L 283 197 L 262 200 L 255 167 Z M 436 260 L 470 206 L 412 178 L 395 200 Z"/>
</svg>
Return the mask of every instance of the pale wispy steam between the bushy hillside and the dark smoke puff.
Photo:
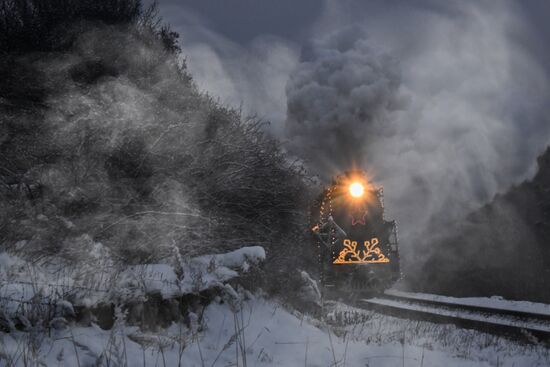
<svg viewBox="0 0 550 367">
<path fill-rule="evenodd" d="M 182 35 L 188 70 L 199 89 L 240 107 L 245 115 L 271 122 L 271 132 L 280 135 L 286 116 L 285 84 L 298 63 L 299 48 L 268 35 L 240 45 L 179 5 L 163 8 L 162 15 Z"/>
</svg>

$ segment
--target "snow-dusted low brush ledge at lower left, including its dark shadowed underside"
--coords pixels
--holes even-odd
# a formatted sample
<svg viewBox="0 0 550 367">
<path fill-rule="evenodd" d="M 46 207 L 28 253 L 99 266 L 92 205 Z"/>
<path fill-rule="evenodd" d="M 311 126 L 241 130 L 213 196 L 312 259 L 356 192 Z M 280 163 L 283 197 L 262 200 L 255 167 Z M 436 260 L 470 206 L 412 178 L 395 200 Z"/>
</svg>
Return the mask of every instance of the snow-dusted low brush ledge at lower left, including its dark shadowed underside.
<svg viewBox="0 0 550 367">
<path fill-rule="evenodd" d="M 94 319 L 110 328 L 116 307 L 129 312 L 133 323 L 158 327 L 193 312 L 196 307 L 188 302 L 208 304 L 215 296 L 238 309 L 241 297 L 228 282 L 265 260 L 265 250 L 252 246 L 194 258 L 174 256 L 172 264 L 121 267 L 114 266 L 101 243 L 81 241 L 89 244 L 80 254 L 87 260 L 76 265 L 62 259 L 31 263 L 0 253 L 0 331 L 62 329 L 75 320 L 86 324 Z"/>
</svg>

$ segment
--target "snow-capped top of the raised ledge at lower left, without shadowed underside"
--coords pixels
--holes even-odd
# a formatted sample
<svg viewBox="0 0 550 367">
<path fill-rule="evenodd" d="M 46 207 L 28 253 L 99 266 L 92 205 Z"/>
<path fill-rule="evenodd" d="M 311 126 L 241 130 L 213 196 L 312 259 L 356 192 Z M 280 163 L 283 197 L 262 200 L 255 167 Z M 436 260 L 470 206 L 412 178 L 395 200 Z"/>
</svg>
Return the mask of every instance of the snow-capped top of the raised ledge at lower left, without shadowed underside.
<svg viewBox="0 0 550 367">
<path fill-rule="evenodd" d="M 120 268 L 108 249 L 93 243 L 86 262 L 78 267 L 65 264 L 30 264 L 21 258 L 0 254 L 0 308 L 10 315 L 36 304 L 69 300 L 75 306 L 143 300 L 158 292 L 170 298 L 197 293 L 247 272 L 265 259 L 262 247 L 252 246 L 226 253 L 181 259 L 171 264 L 148 264 Z"/>
</svg>

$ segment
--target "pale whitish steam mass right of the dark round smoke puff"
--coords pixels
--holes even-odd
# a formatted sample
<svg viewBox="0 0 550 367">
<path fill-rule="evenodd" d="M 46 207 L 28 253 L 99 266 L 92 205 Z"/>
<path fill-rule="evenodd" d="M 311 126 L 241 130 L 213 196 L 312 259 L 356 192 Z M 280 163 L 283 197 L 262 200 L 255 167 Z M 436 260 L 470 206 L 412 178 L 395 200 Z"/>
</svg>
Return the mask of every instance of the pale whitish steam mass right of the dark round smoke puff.
<svg viewBox="0 0 550 367">
<path fill-rule="evenodd" d="M 550 135 L 548 75 L 520 41 L 530 37 L 520 14 L 507 3 L 413 13 L 408 22 L 423 26 L 387 43 L 412 103 L 374 143 L 373 164 L 404 239 L 420 242 L 412 232 L 448 225 L 534 173 Z"/>
</svg>

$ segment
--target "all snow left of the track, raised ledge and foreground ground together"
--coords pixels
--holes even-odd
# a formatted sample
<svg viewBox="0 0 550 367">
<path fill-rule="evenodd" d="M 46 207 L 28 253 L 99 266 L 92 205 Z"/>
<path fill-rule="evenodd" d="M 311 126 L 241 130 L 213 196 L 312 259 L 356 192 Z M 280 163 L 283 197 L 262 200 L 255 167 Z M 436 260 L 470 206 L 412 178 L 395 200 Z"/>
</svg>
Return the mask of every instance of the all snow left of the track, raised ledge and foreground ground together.
<svg viewBox="0 0 550 367">
<path fill-rule="evenodd" d="M 327 305 L 319 320 L 229 286 L 265 258 L 261 247 L 188 260 L 176 251 L 164 264 L 123 268 L 99 243 L 87 251 L 76 268 L 0 254 L 0 366 L 550 366 L 543 345 L 342 303 Z M 302 278 L 313 282 L 307 273 Z M 154 331 L 130 326 L 119 308 L 110 330 L 64 317 L 73 306 L 123 305 L 151 292 L 170 298 L 212 287 L 220 290 L 212 303 Z M 35 324 L 39 311 L 53 312 L 51 327 Z"/>
</svg>

